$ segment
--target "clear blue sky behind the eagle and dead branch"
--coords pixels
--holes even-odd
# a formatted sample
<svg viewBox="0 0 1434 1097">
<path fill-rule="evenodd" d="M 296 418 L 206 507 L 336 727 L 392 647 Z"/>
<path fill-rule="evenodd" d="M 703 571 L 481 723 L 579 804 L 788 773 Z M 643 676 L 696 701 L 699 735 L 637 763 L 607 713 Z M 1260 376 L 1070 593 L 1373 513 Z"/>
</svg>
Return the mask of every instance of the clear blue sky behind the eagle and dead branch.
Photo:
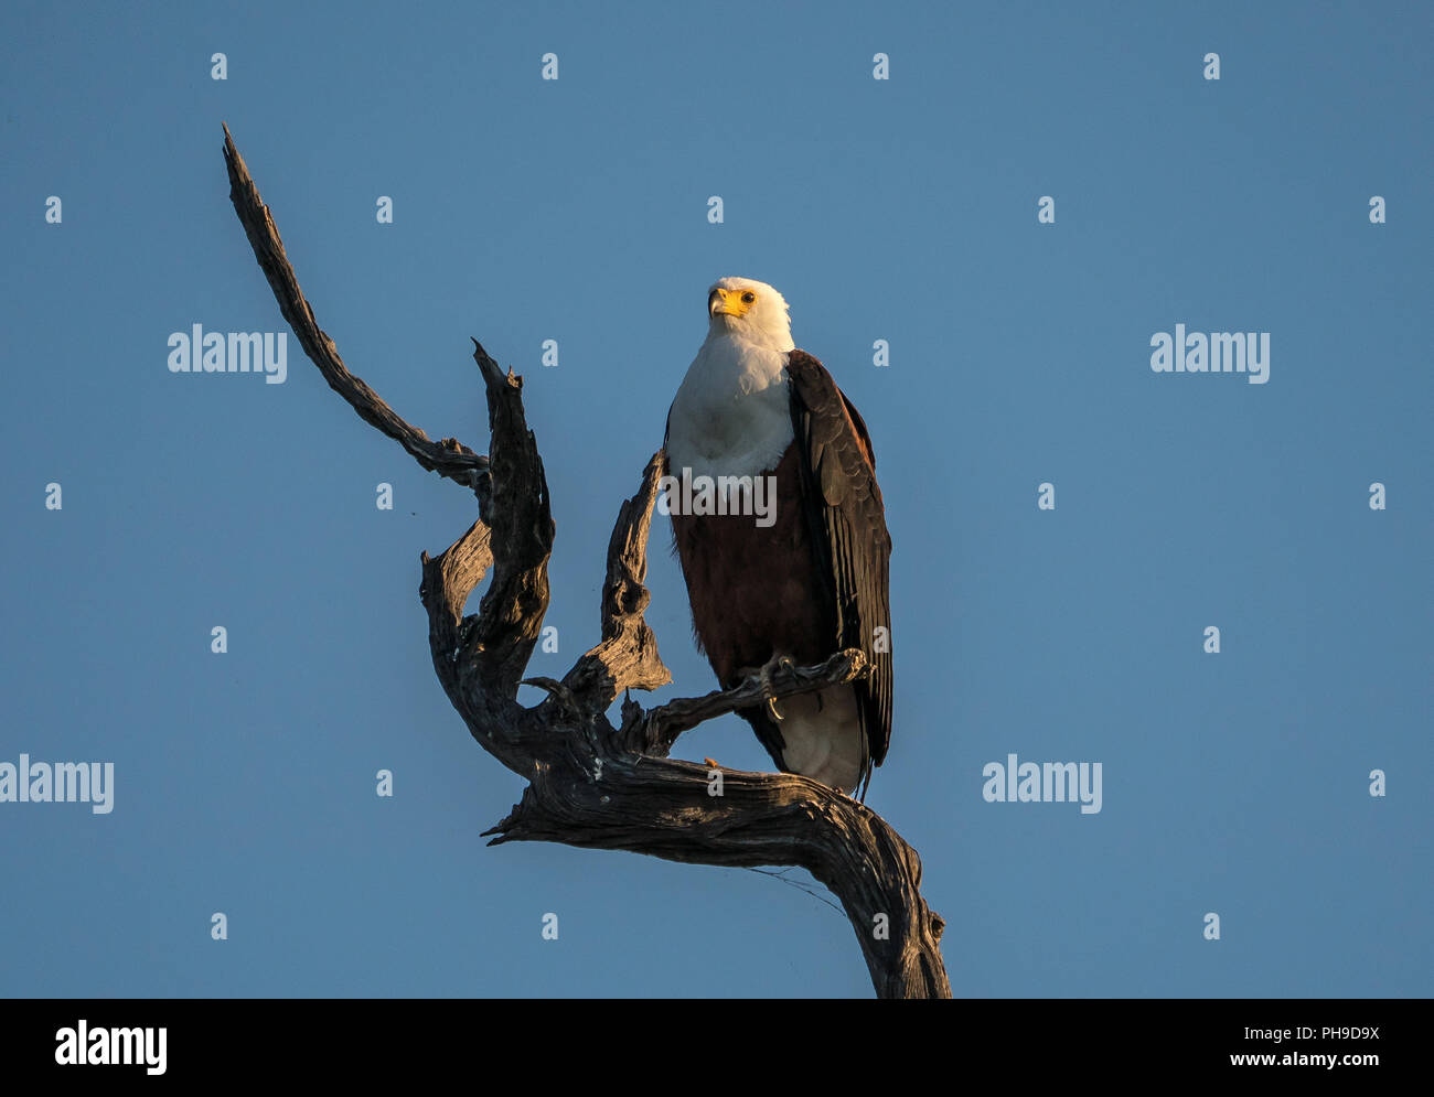
<svg viewBox="0 0 1434 1097">
<path fill-rule="evenodd" d="M 870 994 L 845 916 L 782 880 L 479 839 L 522 783 L 417 599 L 472 496 L 293 336 L 284 384 L 166 369 L 192 324 L 287 330 L 221 120 L 399 414 L 486 450 L 469 336 L 525 376 L 558 526 L 532 674 L 597 640 L 708 284 L 783 291 L 876 445 L 868 802 L 958 995 L 1434 991 L 1434 9 L 1182 9 L 6 3 L 0 761 L 116 790 L 0 803 L 0 994 Z M 1176 324 L 1269 331 L 1269 383 L 1153 373 Z M 657 519 L 675 685 L 644 700 L 714 684 L 668 545 Z M 677 753 L 770 767 L 736 718 Z M 1011 753 L 1100 761 L 1103 810 L 987 803 Z"/>
</svg>

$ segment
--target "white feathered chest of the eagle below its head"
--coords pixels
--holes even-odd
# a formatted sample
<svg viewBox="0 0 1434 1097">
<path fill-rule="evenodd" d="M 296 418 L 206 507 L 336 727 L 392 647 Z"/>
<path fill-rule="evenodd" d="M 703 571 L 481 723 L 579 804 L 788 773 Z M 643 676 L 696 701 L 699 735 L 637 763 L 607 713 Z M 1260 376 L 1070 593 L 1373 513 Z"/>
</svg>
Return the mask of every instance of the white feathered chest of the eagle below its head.
<svg viewBox="0 0 1434 1097">
<path fill-rule="evenodd" d="M 787 353 L 733 333 L 703 343 L 667 422 L 673 475 L 754 476 L 792 445 Z"/>
</svg>

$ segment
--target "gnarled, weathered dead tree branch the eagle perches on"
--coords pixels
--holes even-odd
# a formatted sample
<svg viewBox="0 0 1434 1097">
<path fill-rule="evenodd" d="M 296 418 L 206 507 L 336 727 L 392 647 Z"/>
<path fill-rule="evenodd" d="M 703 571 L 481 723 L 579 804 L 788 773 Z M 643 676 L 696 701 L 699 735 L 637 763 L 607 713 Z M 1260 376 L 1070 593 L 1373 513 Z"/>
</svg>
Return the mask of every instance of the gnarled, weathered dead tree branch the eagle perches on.
<svg viewBox="0 0 1434 1097">
<path fill-rule="evenodd" d="M 667 757 L 683 731 L 706 720 L 868 674 L 862 652 L 839 651 L 819 667 L 773 664 L 733 690 L 651 710 L 627 697 L 622 724 L 614 727 L 607 708 L 619 694 L 671 681 L 644 618 L 657 453 L 637 495 L 622 503 L 608 543 L 601 642 L 562 681 L 522 678 L 548 608 L 554 538 L 522 379 L 500 370 L 473 340 L 488 393 L 488 457 L 453 439 L 435 443 L 394 414 L 348 373 L 320 330 L 268 206 L 228 128 L 224 133 L 229 198 L 304 351 L 364 422 L 424 469 L 478 496 L 479 521 L 439 556 L 423 554 L 419 597 L 433 670 L 449 701 L 478 744 L 528 782 L 508 817 L 485 832 L 492 843 L 562 842 L 701 865 L 802 866 L 842 902 L 878 995 L 949 997 L 939 945 L 945 923 L 921 898 L 921 859 L 880 816 L 807 777 L 717 771 Z M 489 569 L 493 582 L 479 612 L 465 617 L 469 594 Z M 519 704 L 523 683 L 548 695 L 533 707 Z"/>
</svg>

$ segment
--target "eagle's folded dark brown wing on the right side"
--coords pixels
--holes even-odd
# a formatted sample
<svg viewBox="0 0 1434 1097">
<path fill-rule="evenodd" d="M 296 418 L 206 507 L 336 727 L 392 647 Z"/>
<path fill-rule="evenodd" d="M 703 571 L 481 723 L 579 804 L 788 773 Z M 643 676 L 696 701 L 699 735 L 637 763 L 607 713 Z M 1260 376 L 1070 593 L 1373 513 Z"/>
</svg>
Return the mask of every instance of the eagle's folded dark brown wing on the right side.
<svg viewBox="0 0 1434 1097">
<path fill-rule="evenodd" d="M 856 697 L 870 764 L 880 766 L 892 733 L 892 539 L 876 485 L 876 455 L 866 423 L 820 361 L 793 350 L 787 376 L 792 426 L 804 456 L 803 508 L 822 574 L 830 579 L 836 648 L 860 648 L 873 665 L 870 677 L 856 683 Z M 885 651 L 878 650 L 878 630 Z M 870 777 L 869 767 L 863 776 Z"/>
</svg>

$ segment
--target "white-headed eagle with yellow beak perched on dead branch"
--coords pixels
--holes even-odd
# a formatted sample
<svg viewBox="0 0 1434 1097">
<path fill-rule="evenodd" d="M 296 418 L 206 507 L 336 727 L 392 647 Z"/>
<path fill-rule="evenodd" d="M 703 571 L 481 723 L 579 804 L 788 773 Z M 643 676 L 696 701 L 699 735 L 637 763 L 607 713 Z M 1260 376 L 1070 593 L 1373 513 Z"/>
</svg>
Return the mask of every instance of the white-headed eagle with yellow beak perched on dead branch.
<svg viewBox="0 0 1434 1097">
<path fill-rule="evenodd" d="M 869 677 L 739 710 L 777 769 L 865 797 L 892 727 L 886 531 L 866 423 L 753 278 L 707 294 L 667 414 L 665 505 L 693 634 L 723 688 L 860 648 Z"/>
</svg>

